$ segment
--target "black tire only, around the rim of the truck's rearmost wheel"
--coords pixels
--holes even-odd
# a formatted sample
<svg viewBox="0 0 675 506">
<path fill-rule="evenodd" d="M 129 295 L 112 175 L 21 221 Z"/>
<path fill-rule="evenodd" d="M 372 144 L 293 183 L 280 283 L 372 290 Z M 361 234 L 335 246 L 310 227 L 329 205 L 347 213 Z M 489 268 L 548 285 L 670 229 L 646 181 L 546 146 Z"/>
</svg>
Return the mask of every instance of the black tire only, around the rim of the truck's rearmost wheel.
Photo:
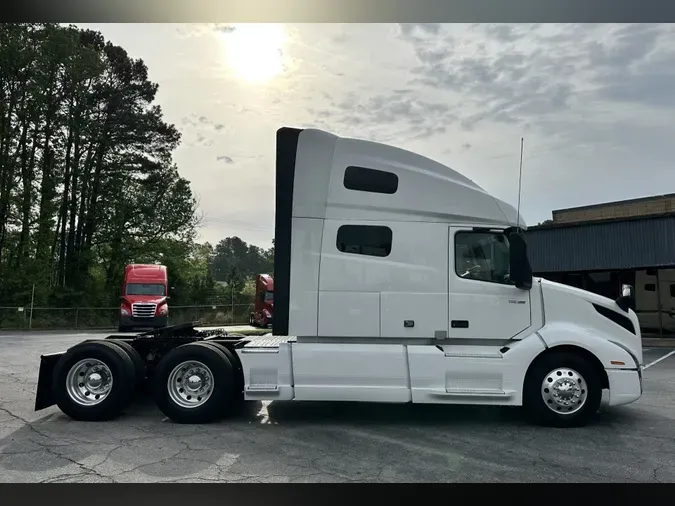
<svg viewBox="0 0 675 506">
<path fill-rule="evenodd" d="M 82 405 L 68 394 L 66 386 L 70 369 L 85 359 L 103 362 L 112 375 L 112 387 L 103 401 Z M 79 421 L 110 420 L 133 401 L 135 368 L 127 353 L 105 341 L 84 342 L 68 350 L 54 368 L 52 389 L 57 406 L 69 417 Z"/>
</svg>

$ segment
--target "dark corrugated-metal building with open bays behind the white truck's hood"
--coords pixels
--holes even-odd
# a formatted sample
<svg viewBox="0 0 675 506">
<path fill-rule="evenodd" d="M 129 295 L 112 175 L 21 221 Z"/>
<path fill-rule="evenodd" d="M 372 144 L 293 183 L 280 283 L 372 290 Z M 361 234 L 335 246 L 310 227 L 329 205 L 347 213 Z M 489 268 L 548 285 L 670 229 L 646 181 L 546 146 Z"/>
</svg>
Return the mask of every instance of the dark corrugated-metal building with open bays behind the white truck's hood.
<svg viewBox="0 0 675 506">
<path fill-rule="evenodd" d="M 634 202 L 669 204 L 673 195 L 575 208 L 615 209 Z M 635 287 L 636 312 L 644 336 L 675 335 L 675 212 L 602 218 L 588 221 L 556 219 L 530 227 L 527 242 L 532 269 L 537 276 L 616 298 L 622 284 Z M 590 213 L 586 213 L 587 215 Z M 622 213 L 627 214 L 625 211 Z"/>
</svg>

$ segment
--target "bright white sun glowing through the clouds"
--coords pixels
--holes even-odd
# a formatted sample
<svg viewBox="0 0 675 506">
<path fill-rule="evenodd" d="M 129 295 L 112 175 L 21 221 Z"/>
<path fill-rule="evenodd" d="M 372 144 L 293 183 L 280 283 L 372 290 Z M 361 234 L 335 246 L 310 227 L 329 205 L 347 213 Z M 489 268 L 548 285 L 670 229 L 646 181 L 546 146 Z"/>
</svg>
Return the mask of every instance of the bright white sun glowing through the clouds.
<svg viewBox="0 0 675 506">
<path fill-rule="evenodd" d="M 284 71 L 286 31 L 280 24 L 237 24 L 224 34 L 227 64 L 250 82 L 266 82 Z"/>
</svg>

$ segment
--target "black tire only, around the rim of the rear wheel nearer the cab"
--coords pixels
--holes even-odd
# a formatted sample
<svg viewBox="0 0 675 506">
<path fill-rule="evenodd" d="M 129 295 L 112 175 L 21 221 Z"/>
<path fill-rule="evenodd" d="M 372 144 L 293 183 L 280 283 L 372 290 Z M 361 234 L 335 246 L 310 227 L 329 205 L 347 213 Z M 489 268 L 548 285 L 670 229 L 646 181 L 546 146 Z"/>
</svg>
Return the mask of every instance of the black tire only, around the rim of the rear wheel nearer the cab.
<svg viewBox="0 0 675 506">
<path fill-rule="evenodd" d="M 183 407 L 169 393 L 172 371 L 183 362 L 195 360 L 208 367 L 213 376 L 210 396 L 198 407 Z M 155 370 L 153 390 L 157 406 L 176 423 L 201 424 L 220 420 L 233 407 L 234 375 L 227 355 L 202 342 L 184 344 L 169 352 Z"/>
</svg>

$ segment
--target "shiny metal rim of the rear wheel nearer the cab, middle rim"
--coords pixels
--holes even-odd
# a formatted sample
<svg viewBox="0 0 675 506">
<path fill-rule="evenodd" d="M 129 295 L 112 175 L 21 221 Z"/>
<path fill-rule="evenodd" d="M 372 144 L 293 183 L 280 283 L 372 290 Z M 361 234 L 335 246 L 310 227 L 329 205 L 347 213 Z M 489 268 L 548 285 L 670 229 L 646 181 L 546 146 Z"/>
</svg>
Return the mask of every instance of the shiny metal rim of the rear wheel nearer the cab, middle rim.
<svg viewBox="0 0 675 506">
<path fill-rule="evenodd" d="M 213 373 L 202 362 L 188 360 L 174 367 L 167 389 L 171 400 L 182 408 L 198 408 L 213 393 Z"/>
</svg>

